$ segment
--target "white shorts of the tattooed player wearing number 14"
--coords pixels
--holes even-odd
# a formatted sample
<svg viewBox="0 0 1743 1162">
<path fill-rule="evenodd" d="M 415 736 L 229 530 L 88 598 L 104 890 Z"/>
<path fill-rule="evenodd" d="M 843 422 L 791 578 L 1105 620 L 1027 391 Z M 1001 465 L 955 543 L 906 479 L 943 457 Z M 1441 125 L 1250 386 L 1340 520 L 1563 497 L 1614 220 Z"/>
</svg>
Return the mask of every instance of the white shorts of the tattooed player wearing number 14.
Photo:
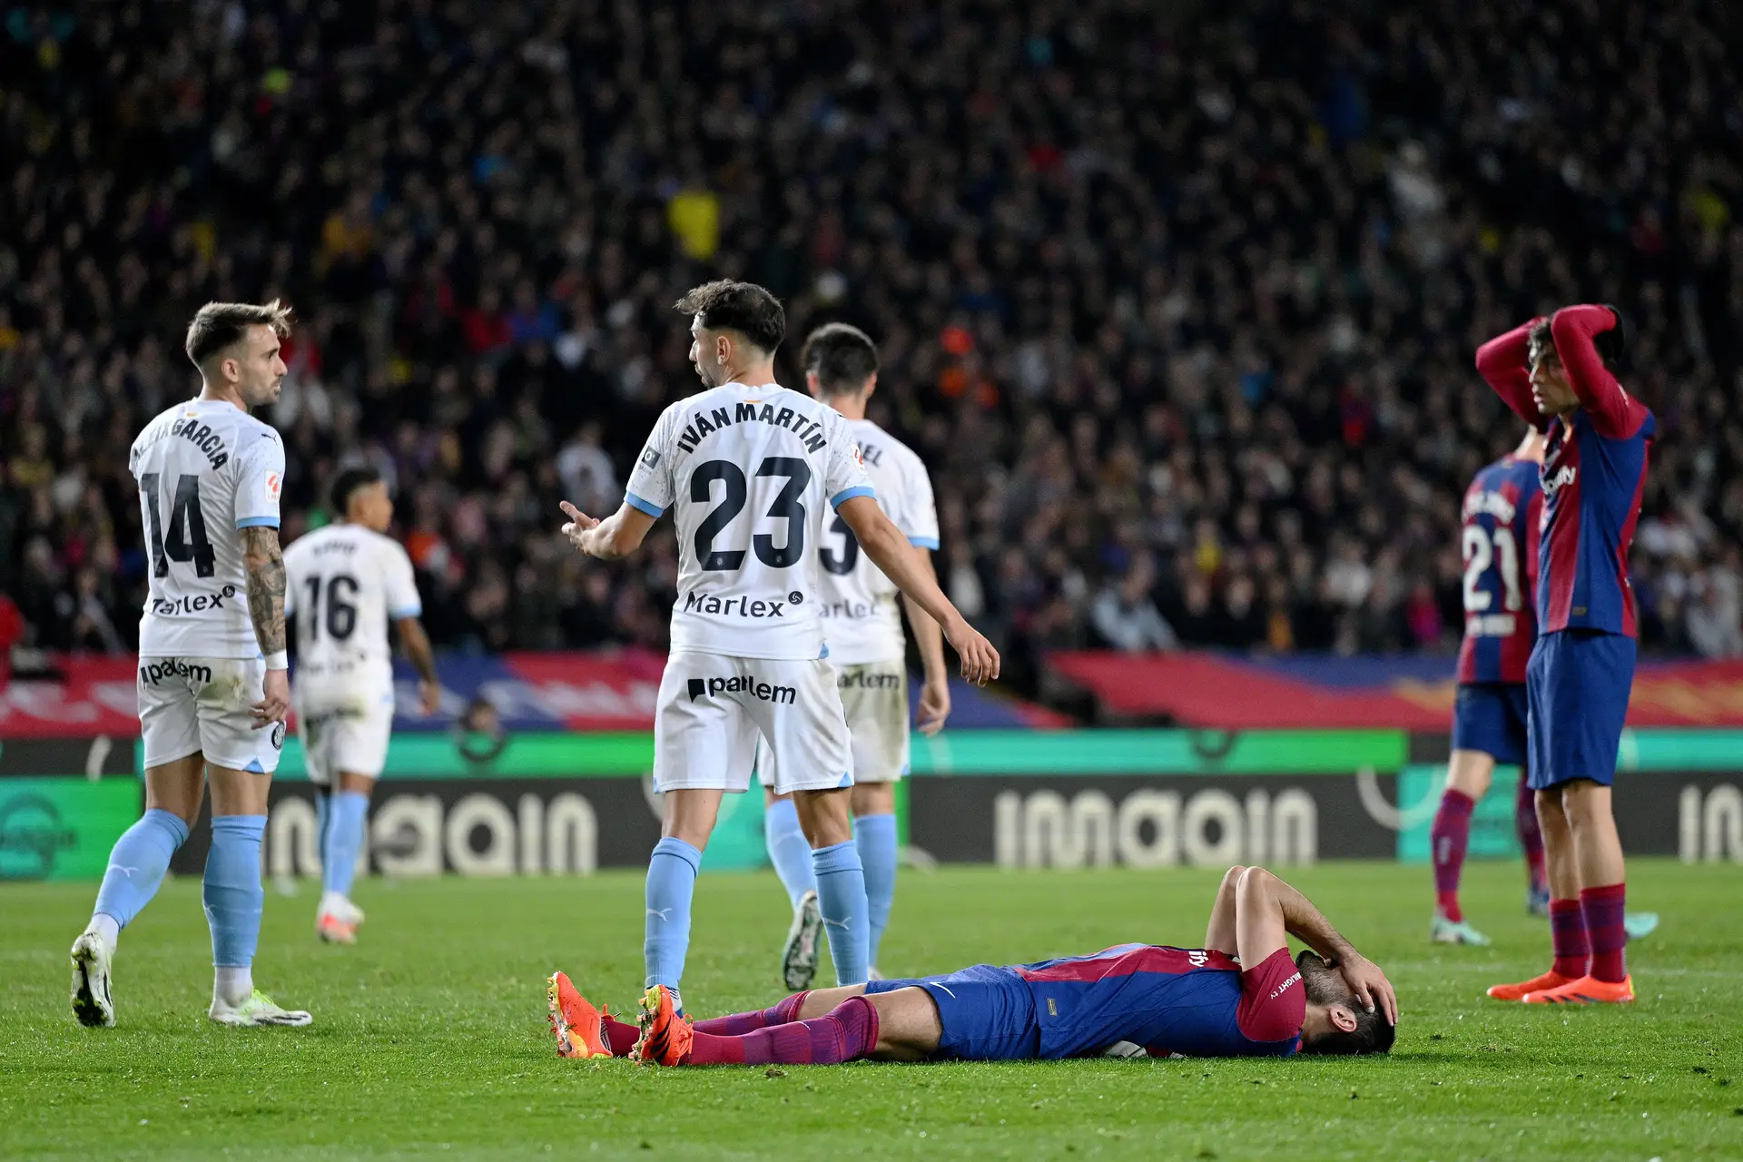
<svg viewBox="0 0 1743 1162">
<path fill-rule="evenodd" d="M 263 659 L 139 659 L 139 735 L 145 765 L 202 754 L 213 767 L 270 775 L 284 749 L 284 723 L 254 728 L 265 697 Z"/>
</svg>

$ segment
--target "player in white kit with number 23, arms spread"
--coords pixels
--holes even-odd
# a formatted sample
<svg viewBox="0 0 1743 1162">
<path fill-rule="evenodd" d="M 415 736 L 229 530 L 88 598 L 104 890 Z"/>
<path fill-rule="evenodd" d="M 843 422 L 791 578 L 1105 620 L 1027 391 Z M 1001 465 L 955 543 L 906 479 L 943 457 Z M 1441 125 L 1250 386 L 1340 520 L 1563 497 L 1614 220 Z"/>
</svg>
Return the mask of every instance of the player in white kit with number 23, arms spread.
<svg viewBox="0 0 1743 1162">
<path fill-rule="evenodd" d="M 849 822 L 852 753 L 817 613 L 826 507 L 943 625 L 967 678 L 997 678 L 999 655 L 877 507 L 847 420 L 774 382 L 781 303 L 722 280 L 685 294 L 678 310 L 692 315 L 690 362 L 708 390 L 661 415 L 617 512 L 596 521 L 563 503 L 565 535 L 596 557 L 633 552 L 668 507 L 678 526 L 671 657 L 654 713 L 664 821 L 648 861 L 647 986 L 676 996 L 702 847 L 720 796 L 749 789 L 758 737 L 774 754 L 776 791 L 793 793 L 810 840 L 837 979 L 859 983 L 870 925 Z"/>
</svg>

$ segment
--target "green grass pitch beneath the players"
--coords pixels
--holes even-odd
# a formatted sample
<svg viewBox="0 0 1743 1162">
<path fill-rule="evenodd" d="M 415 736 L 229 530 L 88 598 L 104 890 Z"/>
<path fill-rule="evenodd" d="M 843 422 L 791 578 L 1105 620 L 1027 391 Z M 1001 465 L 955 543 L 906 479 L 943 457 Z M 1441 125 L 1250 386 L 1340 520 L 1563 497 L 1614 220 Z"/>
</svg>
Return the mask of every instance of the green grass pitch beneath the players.
<svg viewBox="0 0 1743 1162">
<path fill-rule="evenodd" d="M 315 894 L 272 894 L 256 979 L 309 1030 L 204 1019 L 199 885 L 127 930 L 120 1024 L 78 1028 L 66 948 L 89 885 L 0 887 L 0 1155 L 1016 1159 L 1743 1157 L 1743 868 L 1630 866 L 1665 916 L 1633 955 L 1633 1009 L 1525 1009 L 1483 986 L 1544 963 L 1520 873 L 1476 864 L 1466 911 L 1489 949 L 1424 941 L 1428 871 L 1290 873 L 1398 986 L 1389 1059 L 1063 1061 L 636 1070 L 560 1061 L 544 977 L 570 970 L 631 1005 L 641 878 L 425 880 L 359 888 L 363 944 L 314 941 Z M 891 972 L 1035 960 L 1154 939 L 1196 944 L 1210 871 L 997 873 L 901 880 Z M 704 876 L 685 1002 L 770 1003 L 786 902 L 770 875 Z"/>
</svg>

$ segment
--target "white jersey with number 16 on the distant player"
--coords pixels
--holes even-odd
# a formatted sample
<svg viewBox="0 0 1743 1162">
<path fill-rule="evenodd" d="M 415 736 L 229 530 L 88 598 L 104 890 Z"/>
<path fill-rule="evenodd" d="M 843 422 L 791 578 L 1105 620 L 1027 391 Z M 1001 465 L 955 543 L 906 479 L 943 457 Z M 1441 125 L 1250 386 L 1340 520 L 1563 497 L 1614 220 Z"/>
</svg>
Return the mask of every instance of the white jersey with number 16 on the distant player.
<svg viewBox="0 0 1743 1162">
<path fill-rule="evenodd" d="M 411 557 L 363 524 L 328 524 L 284 551 L 284 615 L 296 615 L 302 692 L 392 690 L 387 622 L 418 617 Z"/>
</svg>

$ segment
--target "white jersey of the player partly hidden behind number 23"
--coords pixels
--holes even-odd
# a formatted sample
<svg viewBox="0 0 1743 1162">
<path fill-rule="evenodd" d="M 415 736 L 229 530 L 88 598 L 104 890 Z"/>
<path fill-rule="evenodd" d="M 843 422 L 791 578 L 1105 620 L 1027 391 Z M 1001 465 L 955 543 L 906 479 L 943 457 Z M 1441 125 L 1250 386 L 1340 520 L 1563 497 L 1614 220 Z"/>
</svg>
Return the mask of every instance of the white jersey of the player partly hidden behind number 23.
<svg viewBox="0 0 1743 1162">
<path fill-rule="evenodd" d="M 849 420 L 847 427 L 865 456 L 866 476 L 884 514 L 908 544 L 936 549 L 938 509 L 926 465 L 913 449 L 870 420 Z M 847 521 L 835 517 L 828 533 L 817 545 L 817 564 L 823 566 L 823 636 L 830 660 L 837 665 L 899 660 L 906 643 L 896 608 L 896 582 L 859 552 Z"/>
</svg>

